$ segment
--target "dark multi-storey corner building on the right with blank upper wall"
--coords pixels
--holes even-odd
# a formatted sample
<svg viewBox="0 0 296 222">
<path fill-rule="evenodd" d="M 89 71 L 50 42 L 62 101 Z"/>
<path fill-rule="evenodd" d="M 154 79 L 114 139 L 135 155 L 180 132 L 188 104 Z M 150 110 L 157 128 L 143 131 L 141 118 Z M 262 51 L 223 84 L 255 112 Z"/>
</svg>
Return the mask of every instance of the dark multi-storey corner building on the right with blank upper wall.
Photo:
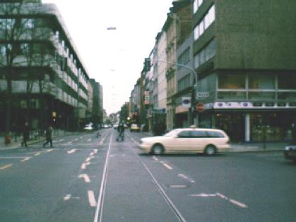
<svg viewBox="0 0 296 222">
<path fill-rule="evenodd" d="M 296 116 L 296 1 L 194 0 L 200 127 L 232 141 L 291 139 Z M 206 94 L 205 94 L 206 95 Z"/>
</svg>

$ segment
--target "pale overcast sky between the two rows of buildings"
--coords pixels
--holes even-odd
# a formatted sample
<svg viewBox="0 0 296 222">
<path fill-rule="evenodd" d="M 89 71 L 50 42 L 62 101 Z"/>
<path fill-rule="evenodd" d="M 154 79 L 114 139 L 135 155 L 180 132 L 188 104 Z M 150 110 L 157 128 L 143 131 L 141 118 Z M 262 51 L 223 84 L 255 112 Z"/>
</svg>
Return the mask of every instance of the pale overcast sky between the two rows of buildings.
<svg viewBox="0 0 296 222">
<path fill-rule="evenodd" d="M 131 90 L 165 23 L 172 0 L 42 0 L 59 8 L 90 78 L 103 86 L 109 115 Z M 107 30 L 116 27 L 117 30 Z"/>
</svg>

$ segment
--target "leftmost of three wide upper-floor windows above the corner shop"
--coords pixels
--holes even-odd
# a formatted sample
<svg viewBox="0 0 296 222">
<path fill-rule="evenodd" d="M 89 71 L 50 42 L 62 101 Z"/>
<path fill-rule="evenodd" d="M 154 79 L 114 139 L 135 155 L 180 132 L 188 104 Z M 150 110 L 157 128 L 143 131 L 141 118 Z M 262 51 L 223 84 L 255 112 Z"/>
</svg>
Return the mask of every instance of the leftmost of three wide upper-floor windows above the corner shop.
<svg viewBox="0 0 296 222">
<path fill-rule="evenodd" d="M 245 89 L 246 81 L 244 75 L 219 74 L 218 88 L 220 89 Z"/>
</svg>

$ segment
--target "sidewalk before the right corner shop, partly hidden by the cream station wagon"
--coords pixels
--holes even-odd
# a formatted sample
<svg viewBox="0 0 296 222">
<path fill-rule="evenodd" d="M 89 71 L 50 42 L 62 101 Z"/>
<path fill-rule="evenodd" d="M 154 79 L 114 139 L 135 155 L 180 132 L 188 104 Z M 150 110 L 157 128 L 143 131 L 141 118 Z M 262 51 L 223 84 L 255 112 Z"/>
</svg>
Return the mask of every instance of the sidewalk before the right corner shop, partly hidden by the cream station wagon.
<svg viewBox="0 0 296 222">
<path fill-rule="evenodd" d="M 153 136 L 152 132 L 141 132 L 146 136 Z M 268 151 L 283 151 L 285 146 L 290 144 L 289 141 L 282 142 L 249 142 L 249 143 L 231 143 L 228 152 L 268 152 Z"/>
</svg>

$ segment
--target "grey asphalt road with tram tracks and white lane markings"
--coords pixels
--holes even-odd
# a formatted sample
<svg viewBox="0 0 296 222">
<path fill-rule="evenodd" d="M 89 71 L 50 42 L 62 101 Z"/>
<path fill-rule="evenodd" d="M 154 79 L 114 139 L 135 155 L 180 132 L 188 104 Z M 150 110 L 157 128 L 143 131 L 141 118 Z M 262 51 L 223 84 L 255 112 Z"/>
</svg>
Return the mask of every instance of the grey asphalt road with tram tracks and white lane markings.
<svg viewBox="0 0 296 222">
<path fill-rule="evenodd" d="M 141 153 L 114 129 L 0 151 L 0 221 L 295 221 L 283 153 Z"/>
</svg>

